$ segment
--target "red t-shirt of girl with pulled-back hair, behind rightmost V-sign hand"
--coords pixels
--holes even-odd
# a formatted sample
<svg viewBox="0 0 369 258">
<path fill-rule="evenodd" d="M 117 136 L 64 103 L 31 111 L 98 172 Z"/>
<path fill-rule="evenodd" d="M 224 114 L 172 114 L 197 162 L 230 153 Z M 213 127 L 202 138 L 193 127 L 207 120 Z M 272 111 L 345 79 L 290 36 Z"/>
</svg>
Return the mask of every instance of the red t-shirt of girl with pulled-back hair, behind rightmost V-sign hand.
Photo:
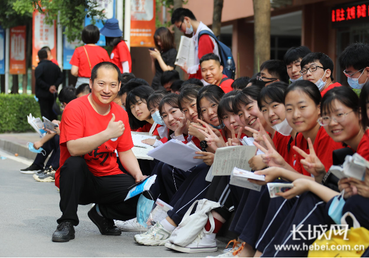
<svg viewBox="0 0 369 258">
<path fill-rule="evenodd" d="M 306 140 L 301 133 L 297 135 L 296 141 L 297 141 L 297 144 L 296 144 L 297 147 L 302 149 L 305 153 L 310 154 L 308 140 Z M 319 160 L 321 161 L 321 163 L 323 163 L 325 167 L 325 171 L 328 171 L 333 165 L 333 157 L 332 157 L 333 150 L 340 149 L 340 148 L 343 148 L 342 143 L 335 142 L 326 133 L 324 127 L 321 126 L 319 128 L 318 134 L 314 141 L 314 151 L 317 157 L 319 158 Z M 302 164 L 300 165 L 297 164 L 297 163 L 300 163 L 300 160 L 304 158 L 298 153 L 296 153 L 296 156 L 297 156 L 296 166 L 297 167 L 301 166 L 301 171 L 303 175 L 311 176 L 311 174 L 304 169 Z"/>
</svg>

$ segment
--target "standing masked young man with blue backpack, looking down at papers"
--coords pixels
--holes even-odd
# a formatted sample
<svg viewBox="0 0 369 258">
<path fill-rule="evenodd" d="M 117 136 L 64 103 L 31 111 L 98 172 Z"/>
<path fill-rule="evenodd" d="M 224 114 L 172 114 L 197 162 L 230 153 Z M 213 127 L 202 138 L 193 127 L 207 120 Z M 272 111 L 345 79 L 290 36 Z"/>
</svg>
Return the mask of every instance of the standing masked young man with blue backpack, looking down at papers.
<svg viewBox="0 0 369 258">
<path fill-rule="evenodd" d="M 189 75 L 189 78 L 197 78 L 201 80 L 202 76 L 199 63 L 201 57 L 209 53 L 214 53 L 219 56 L 219 49 L 218 44 L 214 38 L 209 35 L 202 35 L 201 37 L 199 37 L 198 35 L 200 31 L 203 30 L 208 30 L 213 33 L 212 30 L 209 29 L 209 27 L 204 25 L 202 22 L 198 22 L 195 15 L 186 8 L 175 9 L 172 14 L 171 22 L 181 32 L 187 35 L 193 35 L 192 40 L 194 41 L 195 45 L 195 65 L 188 67 L 187 63 L 185 63 L 185 66 L 181 68 Z"/>
</svg>

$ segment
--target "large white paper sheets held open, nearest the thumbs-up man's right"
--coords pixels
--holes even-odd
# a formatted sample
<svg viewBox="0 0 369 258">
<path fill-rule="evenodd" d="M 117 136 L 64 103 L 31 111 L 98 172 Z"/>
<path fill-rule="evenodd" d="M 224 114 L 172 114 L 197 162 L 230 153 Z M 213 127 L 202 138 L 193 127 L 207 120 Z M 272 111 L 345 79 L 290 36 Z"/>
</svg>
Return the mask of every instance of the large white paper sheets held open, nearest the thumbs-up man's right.
<svg viewBox="0 0 369 258">
<path fill-rule="evenodd" d="M 186 145 L 178 140 L 170 140 L 167 143 L 150 150 L 148 156 L 167 163 L 171 166 L 182 170 L 189 170 L 190 168 L 202 164 L 201 159 L 194 159 L 195 152 L 201 151 L 195 144 L 189 143 Z"/>
</svg>

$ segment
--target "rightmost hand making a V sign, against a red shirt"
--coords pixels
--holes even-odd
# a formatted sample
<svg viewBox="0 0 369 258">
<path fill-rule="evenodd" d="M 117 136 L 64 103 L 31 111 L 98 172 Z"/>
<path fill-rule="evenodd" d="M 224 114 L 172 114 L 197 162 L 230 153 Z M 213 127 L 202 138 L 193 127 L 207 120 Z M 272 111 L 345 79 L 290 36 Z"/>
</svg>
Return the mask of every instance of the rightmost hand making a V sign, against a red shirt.
<svg viewBox="0 0 369 258">
<path fill-rule="evenodd" d="M 306 154 L 302 149 L 297 146 L 293 146 L 294 150 L 300 154 L 304 159 L 300 160 L 306 171 L 315 177 L 315 181 L 320 183 L 325 175 L 325 167 L 323 163 L 315 154 L 314 145 L 310 138 L 308 138 L 310 154 Z M 320 182 L 319 182 L 320 181 Z"/>
</svg>

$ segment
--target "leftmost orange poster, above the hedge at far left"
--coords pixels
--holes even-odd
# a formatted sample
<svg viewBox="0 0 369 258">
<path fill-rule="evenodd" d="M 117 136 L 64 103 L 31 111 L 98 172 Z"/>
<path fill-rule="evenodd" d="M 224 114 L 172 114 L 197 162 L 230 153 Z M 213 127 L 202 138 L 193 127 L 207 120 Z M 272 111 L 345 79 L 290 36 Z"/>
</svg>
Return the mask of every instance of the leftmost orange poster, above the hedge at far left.
<svg viewBox="0 0 369 258">
<path fill-rule="evenodd" d="M 10 29 L 10 74 L 26 74 L 26 26 Z"/>
</svg>

